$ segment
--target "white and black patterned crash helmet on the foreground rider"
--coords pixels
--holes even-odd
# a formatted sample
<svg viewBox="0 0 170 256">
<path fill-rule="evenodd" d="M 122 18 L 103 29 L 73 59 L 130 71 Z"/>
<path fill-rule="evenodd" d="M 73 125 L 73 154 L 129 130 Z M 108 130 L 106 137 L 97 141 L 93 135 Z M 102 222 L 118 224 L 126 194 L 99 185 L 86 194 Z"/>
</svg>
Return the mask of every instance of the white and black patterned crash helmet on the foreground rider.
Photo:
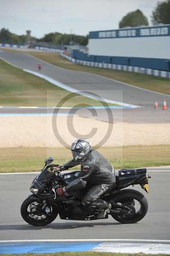
<svg viewBox="0 0 170 256">
<path fill-rule="evenodd" d="M 71 151 L 75 160 L 84 160 L 92 150 L 89 140 L 78 139 L 72 143 Z"/>
</svg>

